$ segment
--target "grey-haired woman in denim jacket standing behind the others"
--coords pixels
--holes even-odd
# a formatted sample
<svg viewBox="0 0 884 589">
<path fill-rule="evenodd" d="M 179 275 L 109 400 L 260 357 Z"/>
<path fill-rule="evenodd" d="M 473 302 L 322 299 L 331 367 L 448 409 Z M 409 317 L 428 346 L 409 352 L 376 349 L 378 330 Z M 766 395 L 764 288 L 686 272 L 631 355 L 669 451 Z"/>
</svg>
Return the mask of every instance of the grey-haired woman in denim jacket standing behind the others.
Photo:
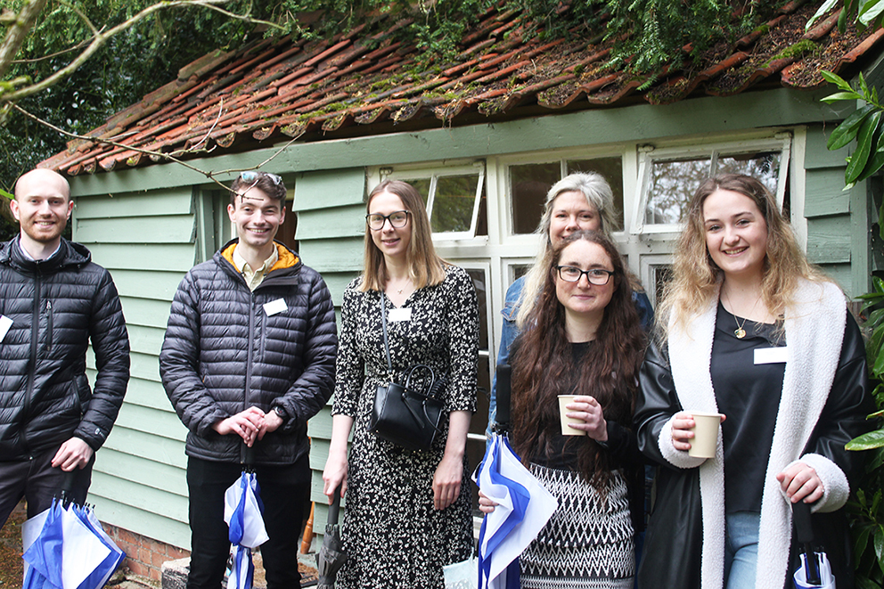
<svg viewBox="0 0 884 589">
<path fill-rule="evenodd" d="M 604 234 L 608 240 L 614 241 L 611 235 L 616 229 L 614 218 L 614 194 L 611 192 L 610 184 L 601 174 L 576 172 L 552 184 L 552 188 L 546 193 L 544 215 L 540 218 L 540 225 L 537 225 L 535 231 L 540 247 L 537 248 L 534 264 L 531 265 L 528 274 L 512 282 L 510 288 L 506 290 L 501 310 L 503 331 L 501 331 L 497 364 L 508 364 L 512 341 L 524 329 L 526 319 L 535 306 L 537 295 L 547 277 L 547 268 L 543 263 L 546 255 L 563 239 L 577 231 L 596 231 Z M 633 289 L 633 301 L 639 320 L 647 331 L 654 316 L 651 301 L 637 278 L 630 274 L 629 282 Z M 488 432 L 497 413 L 496 389 L 495 374 L 488 406 Z"/>
</svg>

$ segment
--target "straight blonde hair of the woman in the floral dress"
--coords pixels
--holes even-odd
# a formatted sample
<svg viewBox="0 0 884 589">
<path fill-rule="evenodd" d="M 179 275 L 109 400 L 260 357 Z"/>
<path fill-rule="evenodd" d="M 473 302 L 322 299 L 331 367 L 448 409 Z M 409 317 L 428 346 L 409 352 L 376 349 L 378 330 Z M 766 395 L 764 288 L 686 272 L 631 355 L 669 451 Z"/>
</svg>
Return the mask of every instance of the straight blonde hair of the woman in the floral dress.
<svg viewBox="0 0 884 589">
<path fill-rule="evenodd" d="M 412 238 L 408 242 L 408 250 L 405 251 L 405 261 L 408 264 L 408 276 L 412 279 L 414 288 L 421 289 L 444 281 L 446 262 L 438 257 L 436 249 L 433 247 L 430 217 L 427 217 L 427 209 L 423 204 L 421 194 L 407 182 L 384 180 L 375 186 L 368 195 L 365 212 L 369 212 L 372 199 L 381 192 L 396 194 L 399 200 L 402 200 L 402 206 L 410 213 Z M 359 290 L 363 292 L 384 290 L 389 280 L 387 262 L 381 250 L 378 250 L 378 247 L 374 245 L 372 230 L 368 223 L 365 224 L 364 246 L 363 281 L 359 285 Z"/>
</svg>

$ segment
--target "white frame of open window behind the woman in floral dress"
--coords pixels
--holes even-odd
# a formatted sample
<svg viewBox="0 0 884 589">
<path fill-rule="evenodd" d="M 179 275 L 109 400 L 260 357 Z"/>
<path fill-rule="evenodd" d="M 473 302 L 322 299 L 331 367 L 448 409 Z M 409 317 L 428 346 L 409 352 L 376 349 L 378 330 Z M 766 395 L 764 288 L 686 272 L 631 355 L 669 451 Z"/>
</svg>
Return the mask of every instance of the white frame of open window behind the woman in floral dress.
<svg viewBox="0 0 884 589">
<path fill-rule="evenodd" d="M 427 195 L 427 215 L 430 224 L 433 220 L 433 205 L 436 203 L 436 186 L 438 179 L 445 176 L 472 176 L 479 175 L 476 184 L 476 195 L 472 204 L 472 217 L 470 229 L 467 231 L 434 232 L 433 241 L 462 241 L 476 238 L 476 228 L 479 226 L 479 208 L 482 201 L 482 192 L 485 188 L 485 161 L 474 160 L 470 162 L 441 162 L 438 164 L 422 164 L 420 166 L 379 166 L 369 168 L 369 184 L 375 186 L 384 180 L 430 180 L 430 194 Z M 373 184 L 372 184 L 373 182 Z M 483 241 L 486 241 L 484 236 Z"/>
</svg>

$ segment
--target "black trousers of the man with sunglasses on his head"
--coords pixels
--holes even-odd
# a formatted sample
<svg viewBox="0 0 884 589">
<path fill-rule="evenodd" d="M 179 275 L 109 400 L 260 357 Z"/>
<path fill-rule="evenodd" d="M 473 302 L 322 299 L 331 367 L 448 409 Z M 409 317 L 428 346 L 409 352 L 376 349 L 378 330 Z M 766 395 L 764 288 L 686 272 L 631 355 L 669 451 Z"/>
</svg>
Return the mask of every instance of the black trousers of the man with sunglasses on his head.
<svg viewBox="0 0 884 589">
<path fill-rule="evenodd" d="M 187 460 L 190 494 L 191 570 L 187 589 L 219 589 L 230 554 L 224 521 L 224 494 L 240 479 L 241 465 Z M 267 589 L 300 589 L 298 544 L 304 503 L 310 489 L 307 454 L 285 466 L 257 465 L 255 473 L 264 502 L 264 523 L 270 539 L 261 545 Z"/>
</svg>

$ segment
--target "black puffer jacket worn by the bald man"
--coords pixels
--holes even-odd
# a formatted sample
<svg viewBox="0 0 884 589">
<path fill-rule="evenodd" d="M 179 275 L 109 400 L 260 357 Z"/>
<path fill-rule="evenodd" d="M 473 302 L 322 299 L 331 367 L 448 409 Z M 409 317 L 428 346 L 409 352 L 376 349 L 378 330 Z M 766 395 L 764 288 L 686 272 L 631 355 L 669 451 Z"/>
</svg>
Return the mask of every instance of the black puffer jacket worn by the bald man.
<svg viewBox="0 0 884 589">
<path fill-rule="evenodd" d="M 129 380 L 129 339 L 117 289 L 89 250 L 67 240 L 35 262 L 18 238 L 0 248 L 0 461 L 26 460 L 71 436 L 93 450 L 117 419 Z M 86 347 L 98 377 L 90 391 Z"/>
</svg>

